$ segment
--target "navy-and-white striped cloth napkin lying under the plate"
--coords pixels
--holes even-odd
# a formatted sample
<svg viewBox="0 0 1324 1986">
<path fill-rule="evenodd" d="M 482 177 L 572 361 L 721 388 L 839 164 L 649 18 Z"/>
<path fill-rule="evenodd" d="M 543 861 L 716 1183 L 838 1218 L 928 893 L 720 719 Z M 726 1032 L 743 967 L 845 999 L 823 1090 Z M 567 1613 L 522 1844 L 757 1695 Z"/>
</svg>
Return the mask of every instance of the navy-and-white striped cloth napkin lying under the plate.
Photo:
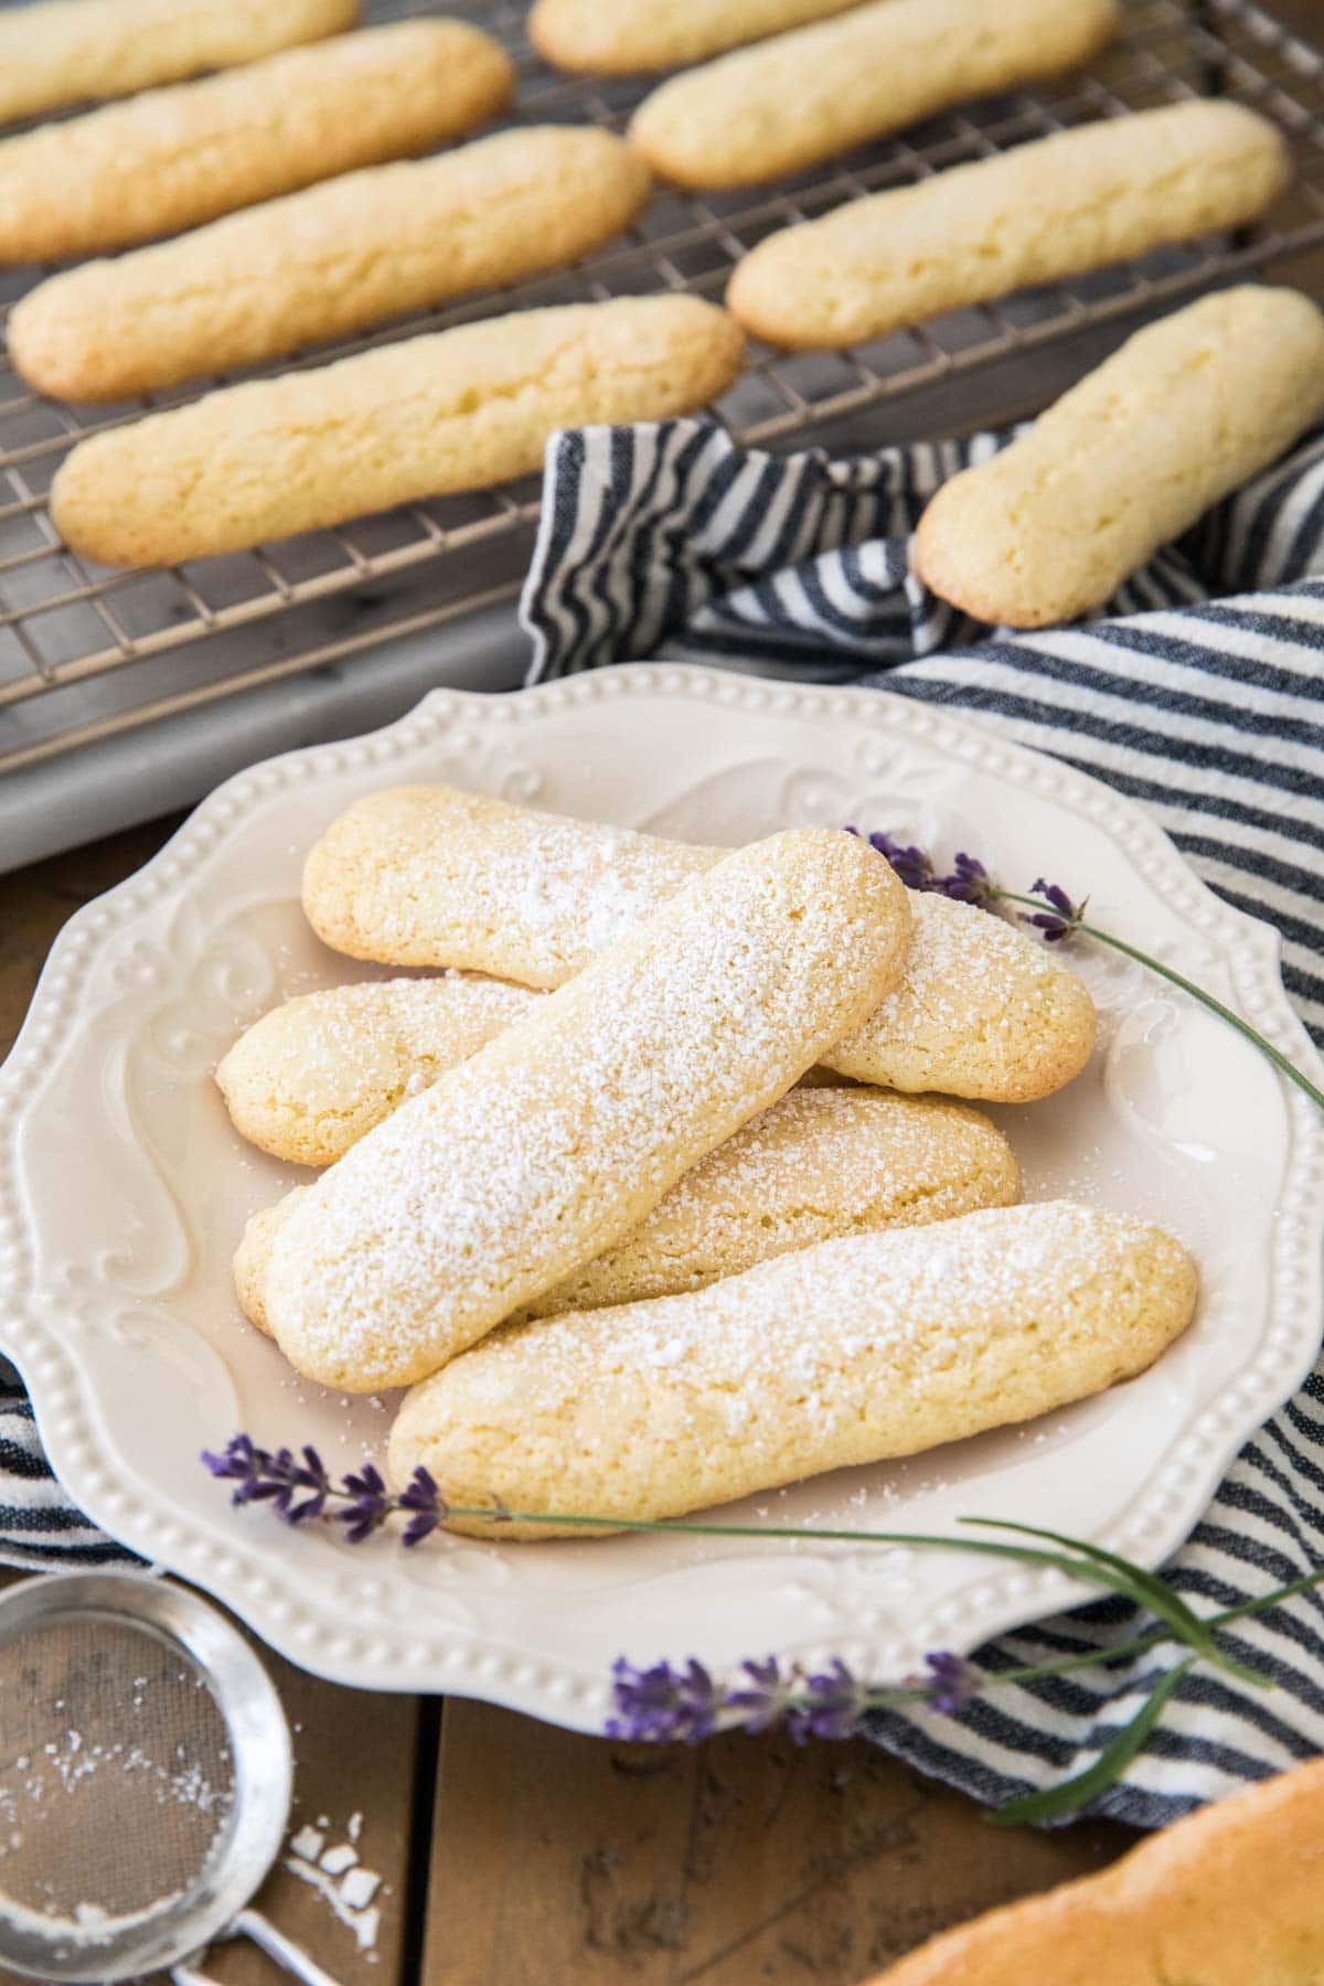
<svg viewBox="0 0 1324 1986">
<path fill-rule="evenodd" d="M 937 485 L 996 447 L 979 435 L 830 461 L 742 451 L 701 421 L 560 435 L 520 610 L 530 677 L 665 655 L 963 707 L 1145 800 L 1215 890 L 1278 925 L 1288 991 L 1324 1043 L 1324 578 L 1310 578 L 1324 574 L 1324 433 L 1167 546 L 1098 620 L 989 638 L 909 574 L 907 538 Z M 0 1394 L 0 1555 L 113 1555 L 62 1501 L 24 1414 Z M 1169 1577 L 1233 1607 L 1322 1549 L 1324 1364 L 1247 1444 Z M 1135 1611 L 1108 1599 L 977 1660 L 1010 1668 L 1135 1631 Z M 1324 1748 L 1324 1599 L 1260 1615 L 1239 1646 L 1280 1688 L 1193 1672 L 1096 1811 L 1157 1827 Z M 875 1716 L 871 1736 L 1002 1801 L 1084 1770 L 1173 1660 L 1155 1650 L 1006 1686 L 957 1716 Z"/>
</svg>

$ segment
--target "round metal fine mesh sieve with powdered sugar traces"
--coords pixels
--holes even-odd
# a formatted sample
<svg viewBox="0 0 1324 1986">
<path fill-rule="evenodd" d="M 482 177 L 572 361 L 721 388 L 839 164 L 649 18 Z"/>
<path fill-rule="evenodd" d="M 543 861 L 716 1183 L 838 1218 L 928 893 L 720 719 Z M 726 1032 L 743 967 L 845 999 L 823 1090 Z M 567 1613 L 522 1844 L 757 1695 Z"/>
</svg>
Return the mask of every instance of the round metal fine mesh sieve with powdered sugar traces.
<svg viewBox="0 0 1324 1986">
<path fill-rule="evenodd" d="M 204 1601 L 145 1573 L 0 1595 L 0 1964 L 127 1980 L 248 1934 L 333 1986 L 248 1899 L 276 1861 L 294 1760 L 280 1698 Z"/>
</svg>

